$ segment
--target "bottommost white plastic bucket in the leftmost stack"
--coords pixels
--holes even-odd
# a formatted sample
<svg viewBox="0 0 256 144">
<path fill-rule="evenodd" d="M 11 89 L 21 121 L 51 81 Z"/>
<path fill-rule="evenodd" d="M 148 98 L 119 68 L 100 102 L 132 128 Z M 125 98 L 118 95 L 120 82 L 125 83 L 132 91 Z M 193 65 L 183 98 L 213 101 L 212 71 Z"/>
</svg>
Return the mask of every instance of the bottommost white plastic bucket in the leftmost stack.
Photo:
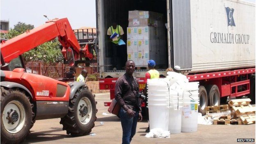
<svg viewBox="0 0 256 144">
<path fill-rule="evenodd" d="M 168 130 L 169 109 L 166 104 L 149 104 L 149 127 L 150 129 L 162 128 Z"/>
</svg>

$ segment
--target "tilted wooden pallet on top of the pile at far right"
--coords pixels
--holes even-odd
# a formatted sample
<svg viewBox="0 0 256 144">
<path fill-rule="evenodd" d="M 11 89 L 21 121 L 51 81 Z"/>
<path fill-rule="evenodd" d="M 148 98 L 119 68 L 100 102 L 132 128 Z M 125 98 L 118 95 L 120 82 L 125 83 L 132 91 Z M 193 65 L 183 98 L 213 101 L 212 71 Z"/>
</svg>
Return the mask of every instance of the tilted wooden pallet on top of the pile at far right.
<svg viewBox="0 0 256 144">
<path fill-rule="evenodd" d="M 255 107 L 250 102 L 250 98 L 229 101 L 229 106 L 244 124 L 255 123 Z"/>
</svg>

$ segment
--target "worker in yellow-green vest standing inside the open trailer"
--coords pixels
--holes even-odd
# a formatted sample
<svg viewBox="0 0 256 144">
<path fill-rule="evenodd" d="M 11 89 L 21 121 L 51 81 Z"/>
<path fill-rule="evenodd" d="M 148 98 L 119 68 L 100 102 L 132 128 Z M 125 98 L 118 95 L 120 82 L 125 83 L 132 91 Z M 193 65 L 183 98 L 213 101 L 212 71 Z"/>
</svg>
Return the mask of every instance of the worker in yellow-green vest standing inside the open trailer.
<svg viewBox="0 0 256 144">
<path fill-rule="evenodd" d="M 117 37 L 113 39 L 110 38 L 113 56 L 112 65 L 113 70 L 120 70 L 126 63 L 127 53 L 125 45 L 119 45 L 121 36 L 124 34 L 123 28 L 114 22 L 112 26 L 107 29 L 107 35 L 112 36 L 115 32 L 118 34 Z"/>
</svg>

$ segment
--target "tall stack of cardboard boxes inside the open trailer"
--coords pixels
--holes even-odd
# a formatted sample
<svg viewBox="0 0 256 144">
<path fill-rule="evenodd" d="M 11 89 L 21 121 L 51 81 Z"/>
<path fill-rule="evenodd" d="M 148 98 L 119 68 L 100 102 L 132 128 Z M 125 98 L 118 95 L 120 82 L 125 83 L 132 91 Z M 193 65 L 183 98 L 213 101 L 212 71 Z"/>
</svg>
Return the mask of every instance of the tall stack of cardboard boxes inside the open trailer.
<svg viewBox="0 0 256 144">
<path fill-rule="evenodd" d="M 166 40 L 163 15 L 151 11 L 129 11 L 127 55 L 137 67 L 146 67 L 149 59 L 166 64 Z"/>
</svg>

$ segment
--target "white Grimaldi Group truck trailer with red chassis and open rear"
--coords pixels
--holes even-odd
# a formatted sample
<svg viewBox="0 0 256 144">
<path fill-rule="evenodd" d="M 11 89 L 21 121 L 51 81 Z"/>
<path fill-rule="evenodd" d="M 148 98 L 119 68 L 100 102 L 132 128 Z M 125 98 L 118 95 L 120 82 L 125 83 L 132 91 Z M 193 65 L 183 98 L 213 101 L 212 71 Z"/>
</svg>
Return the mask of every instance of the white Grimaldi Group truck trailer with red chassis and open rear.
<svg viewBox="0 0 256 144">
<path fill-rule="evenodd" d="M 127 42 L 129 11 L 135 10 L 162 14 L 166 45 L 156 53 L 166 63 L 156 68 L 160 77 L 173 68 L 190 82 L 199 82 L 199 112 L 225 103 L 228 96 L 255 101 L 255 4 L 242 0 L 96 0 L 99 85 L 110 90 L 110 99 L 125 70 L 112 70 L 107 29 L 115 21 L 123 27 Z M 145 87 L 146 71 L 137 67 L 134 72 L 140 89 Z"/>
</svg>

